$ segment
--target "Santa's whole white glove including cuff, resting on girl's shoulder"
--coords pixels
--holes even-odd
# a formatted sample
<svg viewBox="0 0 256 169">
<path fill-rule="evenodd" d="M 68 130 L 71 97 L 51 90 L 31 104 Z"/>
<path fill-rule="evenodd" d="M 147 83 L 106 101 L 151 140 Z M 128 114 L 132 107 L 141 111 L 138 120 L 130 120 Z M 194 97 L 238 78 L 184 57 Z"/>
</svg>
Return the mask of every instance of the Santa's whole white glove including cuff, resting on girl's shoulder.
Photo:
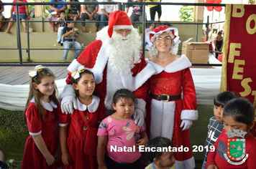
<svg viewBox="0 0 256 169">
<path fill-rule="evenodd" d="M 60 94 L 59 100 L 61 102 L 61 111 L 66 114 L 73 114 L 73 108 L 78 109 L 76 92 L 71 84 L 65 85 L 63 92 Z"/>
</svg>

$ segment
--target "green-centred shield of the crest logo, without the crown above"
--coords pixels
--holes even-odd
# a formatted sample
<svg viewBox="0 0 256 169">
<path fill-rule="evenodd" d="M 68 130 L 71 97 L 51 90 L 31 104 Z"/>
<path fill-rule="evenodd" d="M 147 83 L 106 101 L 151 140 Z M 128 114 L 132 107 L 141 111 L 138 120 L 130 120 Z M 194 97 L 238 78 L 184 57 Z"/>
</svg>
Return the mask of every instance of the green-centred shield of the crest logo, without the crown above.
<svg viewBox="0 0 256 169">
<path fill-rule="evenodd" d="M 230 160 L 242 160 L 245 156 L 245 138 L 228 138 L 227 156 Z"/>
</svg>

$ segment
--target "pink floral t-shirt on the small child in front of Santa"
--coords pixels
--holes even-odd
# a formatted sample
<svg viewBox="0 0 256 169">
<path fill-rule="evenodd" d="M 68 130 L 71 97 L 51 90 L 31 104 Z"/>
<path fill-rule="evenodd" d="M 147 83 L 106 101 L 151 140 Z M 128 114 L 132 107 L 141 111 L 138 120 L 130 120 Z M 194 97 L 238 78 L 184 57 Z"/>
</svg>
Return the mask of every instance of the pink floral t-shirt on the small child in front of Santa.
<svg viewBox="0 0 256 169">
<path fill-rule="evenodd" d="M 134 163 L 141 156 L 136 143 L 140 140 L 140 132 L 144 130 L 132 118 L 121 121 L 109 116 L 102 120 L 97 135 L 108 136 L 106 150 L 109 158 L 117 163 Z"/>
</svg>

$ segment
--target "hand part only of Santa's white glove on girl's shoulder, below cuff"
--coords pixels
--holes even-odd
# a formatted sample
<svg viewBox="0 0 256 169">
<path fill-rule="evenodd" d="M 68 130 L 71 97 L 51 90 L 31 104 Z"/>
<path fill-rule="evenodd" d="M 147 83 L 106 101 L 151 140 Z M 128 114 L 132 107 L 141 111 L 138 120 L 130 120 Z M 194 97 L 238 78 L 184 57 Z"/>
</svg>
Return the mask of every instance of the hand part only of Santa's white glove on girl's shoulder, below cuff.
<svg viewBox="0 0 256 169">
<path fill-rule="evenodd" d="M 66 114 L 73 114 L 73 106 L 74 109 L 78 109 L 78 103 L 76 102 L 76 97 L 73 95 L 63 97 L 61 101 L 61 111 Z"/>
</svg>

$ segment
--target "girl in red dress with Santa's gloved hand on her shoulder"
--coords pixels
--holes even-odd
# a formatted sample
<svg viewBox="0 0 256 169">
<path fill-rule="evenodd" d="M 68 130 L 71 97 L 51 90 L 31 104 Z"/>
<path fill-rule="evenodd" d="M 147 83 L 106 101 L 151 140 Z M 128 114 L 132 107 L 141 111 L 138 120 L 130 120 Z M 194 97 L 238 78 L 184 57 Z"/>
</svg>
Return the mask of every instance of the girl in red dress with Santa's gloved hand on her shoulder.
<svg viewBox="0 0 256 169">
<path fill-rule="evenodd" d="M 63 169 L 96 169 L 96 132 L 106 117 L 104 102 L 93 95 L 94 75 L 84 66 L 71 74 L 78 107 L 66 115 L 59 108 L 60 148 Z"/>
</svg>

